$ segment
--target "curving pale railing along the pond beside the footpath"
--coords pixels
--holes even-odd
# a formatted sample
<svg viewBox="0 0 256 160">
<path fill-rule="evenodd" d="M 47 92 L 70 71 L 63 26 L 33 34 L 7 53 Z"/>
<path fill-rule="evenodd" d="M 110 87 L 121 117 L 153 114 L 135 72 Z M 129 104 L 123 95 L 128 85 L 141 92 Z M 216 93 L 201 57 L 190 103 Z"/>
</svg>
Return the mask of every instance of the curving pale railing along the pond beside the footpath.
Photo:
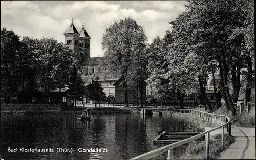
<svg viewBox="0 0 256 160">
<path fill-rule="evenodd" d="M 168 110 L 174 110 L 174 109 L 168 109 Z M 185 113 L 186 110 L 188 110 L 188 109 L 178 109 L 178 110 L 180 110 L 180 112 L 181 112 L 181 110 L 184 110 L 184 113 Z M 229 132 L 229 135 L 231 135 L 231 122 L 230 122 L 230 118 L 229 117 L 227 117 L 225 115 L 216 115 L 216 114 L 212 114 L 212 113 L 206 113 L 206 112 L 199 111 L 199 110 L 194 110 L 194 109 L 189 110 L 188 112 L 189 113 L 193 113 L 193 114 L 198 115 L 198 116 L 200 115 L 200 117 L 206 118 L 208 121 L 210 121 L 210 117 L 211 117 L 211 122 L 212 122 L 212 118 L 215 116 L 215 123 L 217 123 L 217 117 L 220 117 L 220 126 L 212 128 L 212 129 L 210 129 L 208 131 L 205 131 L 203 133 L 197 134 L 195 136 L 191 136 L 188 139 L 181 140 L 181 141 L 178 141 L 178 142 L 175 142 L 175 143 L 163 146 L 161 148 L 155 149 L 153 151 L 147 152 L 145 154 L 139 155 L 137 157 L 132 158 L 131 160 L 151 159 L 151 158 L 154 158 L 157 155 L 160 155 L 160 154 L 162 154 L 164 152 L 167 152 L 167 151 L 168 151 L 167 159 L 172 159 L 172 149 L 174 149 L 176 147 L 179 147 L 179 146 L 181 146 L 183 144 L 192 142 L 192 141 L 194 141 L 194 140 L 196 140 L 198 138 L 201 138 L 204 135 L 207 135 L 206 136 L 206 154 L 205 154 L 205 158 L 209 159 L 210 132 L 215 131 L 215 130 L 217 130 L 219 128 L 222 129 L 221 145 L 224 146 L 224 127 L 225 126 L 227 126 L 227 130 Z M 222 120 L 225 120 L 224 124 L 222 124 Z"/>
</svg>

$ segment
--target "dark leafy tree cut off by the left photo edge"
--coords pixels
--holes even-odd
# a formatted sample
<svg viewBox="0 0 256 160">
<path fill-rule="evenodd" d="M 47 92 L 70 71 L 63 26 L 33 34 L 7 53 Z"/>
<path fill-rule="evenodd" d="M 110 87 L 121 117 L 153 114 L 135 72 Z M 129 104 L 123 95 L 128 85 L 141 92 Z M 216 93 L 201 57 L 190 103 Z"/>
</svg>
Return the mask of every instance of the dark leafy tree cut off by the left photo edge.
<svg viewBox="0 0 256 160">
<path fill-rule="evenodd" d="M 1 96 L 9 97 L 18 93 L 19 36 L 6 28 L 1 30 Z"/>
</svg>

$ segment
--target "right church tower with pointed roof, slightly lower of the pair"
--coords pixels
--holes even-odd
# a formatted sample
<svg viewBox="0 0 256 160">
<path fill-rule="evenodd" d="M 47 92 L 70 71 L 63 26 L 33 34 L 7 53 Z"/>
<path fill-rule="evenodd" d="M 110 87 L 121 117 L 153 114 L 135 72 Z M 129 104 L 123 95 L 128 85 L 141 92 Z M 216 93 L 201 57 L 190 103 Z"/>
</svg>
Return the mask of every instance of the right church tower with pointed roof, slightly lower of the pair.
<svg viewBox="0 0 256 160">
<path fill-rule="evenodd" d="M 86 29 L 84 29 L 82 25 L 82 29 L 80 31 L 80 37 L 79 37 L 79 48 L 80 48 L 80 57 L 82 58 L 90 58 L 90 40 L 91 37 L 86 32 Z"/>
</svg>

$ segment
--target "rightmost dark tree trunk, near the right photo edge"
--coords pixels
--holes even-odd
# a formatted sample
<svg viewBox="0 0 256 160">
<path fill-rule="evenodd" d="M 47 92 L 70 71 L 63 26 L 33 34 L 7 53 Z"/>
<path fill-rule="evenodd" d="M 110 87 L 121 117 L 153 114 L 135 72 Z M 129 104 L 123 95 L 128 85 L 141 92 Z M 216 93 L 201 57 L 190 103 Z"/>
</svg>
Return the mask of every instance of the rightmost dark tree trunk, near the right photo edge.
<svg viewBox="0 0 256 160">
<path fill-rule="evenodd" d="M 247 103 L 250 102 L 251 88 L 252 88 L 252 58 L 247 57 L 247 79 L 246 79 L 246 88 L 245 88 L 245 101 L 244 106 L 247 106 Z"/>
</svg>

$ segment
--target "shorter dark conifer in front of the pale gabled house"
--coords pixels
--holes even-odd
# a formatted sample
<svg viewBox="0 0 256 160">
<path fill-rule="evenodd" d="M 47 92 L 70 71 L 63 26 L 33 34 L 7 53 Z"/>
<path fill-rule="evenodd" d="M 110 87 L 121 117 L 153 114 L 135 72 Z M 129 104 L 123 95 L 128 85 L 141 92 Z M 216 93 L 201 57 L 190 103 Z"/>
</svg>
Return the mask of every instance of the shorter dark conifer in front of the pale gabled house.
<svg viewBox="0 0 256 160">
<path fill-rule="evenodd" d="M 95 101 L 95 107 L 96 107 L 96 102 L 99 104 L 99 107 L 100 107 L 100 101 L 106 100 L 106 94 L 103 91 L 103 87 L 101 86 L 101 83 L 98 77 L 96 77 L 96 80 L 93 82 L 93 85 L 90 88 L 89 92 L 90 92 L 90 99 Z"/>
</svg>

